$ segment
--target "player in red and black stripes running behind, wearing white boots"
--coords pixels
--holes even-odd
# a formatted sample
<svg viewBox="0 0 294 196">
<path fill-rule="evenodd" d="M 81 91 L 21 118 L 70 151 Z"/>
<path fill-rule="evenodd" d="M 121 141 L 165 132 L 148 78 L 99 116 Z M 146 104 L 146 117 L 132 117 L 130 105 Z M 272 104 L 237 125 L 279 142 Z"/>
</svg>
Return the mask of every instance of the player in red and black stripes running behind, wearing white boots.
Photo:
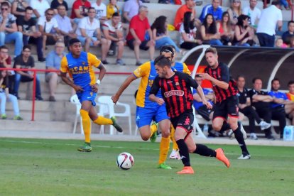
<svg viewBox="0 0 294 196">
<path fill-rule="evenodd" d="M 238 89 L 235 82 L 230 80 L 229 67 L 222 62 L 218 62 L 216 48 L 207 48 L 205 58 L 209 66 L 205 68 L 205 73 L 200 74 L 200 76 L 202 79 L 212 82 L 217 99 L 213 109 L 212 128 L 214 131 L 232 129 L 242 151 L 242 155 L 238 159 L 249 159 L 251 157 L 241 133 L 241 122 L 238 121 L 239 99 L 236 95 Z"/>
</svg>

